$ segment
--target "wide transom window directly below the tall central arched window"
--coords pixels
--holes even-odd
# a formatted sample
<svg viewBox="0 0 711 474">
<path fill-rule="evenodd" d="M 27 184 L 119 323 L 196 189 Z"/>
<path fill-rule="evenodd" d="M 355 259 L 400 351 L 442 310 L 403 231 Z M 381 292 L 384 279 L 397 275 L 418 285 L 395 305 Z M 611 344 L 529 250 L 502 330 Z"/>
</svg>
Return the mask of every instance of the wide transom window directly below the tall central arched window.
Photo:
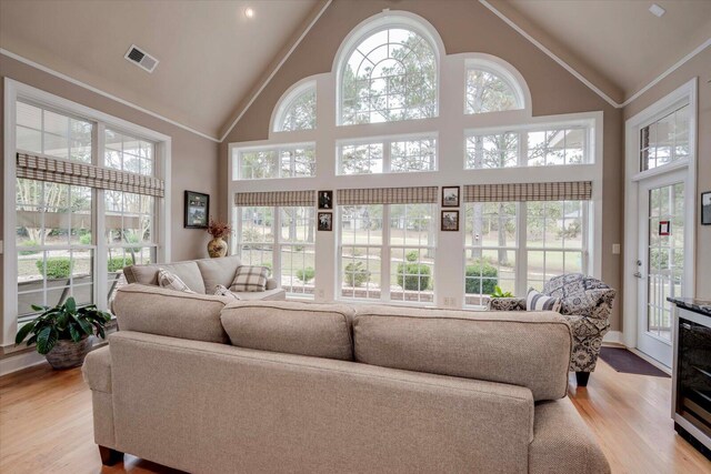
<svg viewBox="0 0 711 474">
<path fill-rule="evenodd" d="M 338 147 L 339 174 L 437 171 L 437 138 L 432 135 L 358 140 Z"/>
</svg>

